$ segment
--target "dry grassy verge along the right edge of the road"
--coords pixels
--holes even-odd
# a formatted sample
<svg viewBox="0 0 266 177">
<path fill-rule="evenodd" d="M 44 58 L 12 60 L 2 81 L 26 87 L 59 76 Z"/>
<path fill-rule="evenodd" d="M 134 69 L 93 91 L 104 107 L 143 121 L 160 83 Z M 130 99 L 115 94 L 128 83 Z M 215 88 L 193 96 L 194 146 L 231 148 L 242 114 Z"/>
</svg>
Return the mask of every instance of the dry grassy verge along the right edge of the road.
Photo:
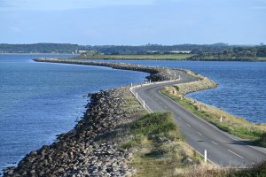
<svg viewBox="0 0 266 177">
<path fill-rule="evenodd" d="M 174 87 L 161 90 L 161 93 L 170 97 L 176 103 L 182 105 L 190 112 L 196 114 L 202 119 L 207 120 L 219 127 L 225 132 L 229 132 L 232 135 L 237 135 L 240 138 L 246 139 L 255 145 L 266 147 L 266 125 L 265 124 L 253 124 L 246 119 L 235 117 L 227 112 L 215 108 L 213 106 L 202 104 L 193 100 L 192 98 L 185 97 L 180 94 Z M 222 122 L 220 122 L 222 116 Z"/>
</svg>

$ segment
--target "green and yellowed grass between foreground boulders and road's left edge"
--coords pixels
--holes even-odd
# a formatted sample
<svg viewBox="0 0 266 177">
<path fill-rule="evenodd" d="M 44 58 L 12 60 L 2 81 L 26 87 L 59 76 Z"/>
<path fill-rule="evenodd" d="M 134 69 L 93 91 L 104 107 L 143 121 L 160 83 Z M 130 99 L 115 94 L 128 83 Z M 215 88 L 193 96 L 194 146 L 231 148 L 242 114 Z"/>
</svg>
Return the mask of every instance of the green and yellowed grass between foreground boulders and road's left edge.
<svg viewBox="0 0 266 177">
<path fill-rule="evenodd" d="M 258 176 L 265 172 L 265 163 L 251 169 L 224 169 L 204 163 L 202 158 L 184 142 L 176 121 L 168 112 L 147 114 L 133 96 L 123 96 L 127 104 L 123 109 L 134 109 L 135 118 L 99 135 L 98 142 L 116 142 L 121 149 L 133 152 L 130 166 L 136 169 L 135 177 L 160 176 Z M 191 158 L 191 163 L 184 159 Z"/>
</svg>

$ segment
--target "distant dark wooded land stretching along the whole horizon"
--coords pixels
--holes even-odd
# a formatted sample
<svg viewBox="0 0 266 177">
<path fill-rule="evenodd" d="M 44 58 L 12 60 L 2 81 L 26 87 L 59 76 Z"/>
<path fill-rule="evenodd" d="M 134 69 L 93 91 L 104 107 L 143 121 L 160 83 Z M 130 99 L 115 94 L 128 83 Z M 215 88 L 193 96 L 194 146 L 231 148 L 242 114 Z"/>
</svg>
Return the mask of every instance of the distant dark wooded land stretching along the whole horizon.
<svg viewBox="0 0 266 177">
<path fill-rule="evenodd" d="M 266 45 L 241 46 L 226 43 L 215 44 L 179 44 L 140 46 L 129 45 L 78 45 L 71 43 L 33 43 L 6 44 L 0 43 L 0 53 L 79 53 L 104 55 L 156 55 L 187 54 L 189 60 L 243 60 L 266 61 Z M 90 55 L 89 55 L 90 56 Z M 82 56 L 84 57 L 84 56 Z M 180 59 L 180 58 L 178 58 Z"/>
</svg>

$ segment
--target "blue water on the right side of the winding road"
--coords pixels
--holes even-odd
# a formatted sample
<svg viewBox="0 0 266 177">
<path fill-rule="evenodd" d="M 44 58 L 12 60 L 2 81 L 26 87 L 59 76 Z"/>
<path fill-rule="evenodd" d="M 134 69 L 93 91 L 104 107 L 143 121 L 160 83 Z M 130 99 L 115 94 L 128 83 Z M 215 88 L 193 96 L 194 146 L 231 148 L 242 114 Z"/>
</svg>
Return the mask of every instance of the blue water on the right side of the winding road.
<svg viewBox="0 0 266 177">
<path fill-rule="evenodd" d="M 203 74 L 218 83 L 218 88 L 195 92 L 188 96 L 254 123 L 266 123 L 266 62 L 161 60 L 113 60 L 112 62 L 176 67 Z"/>
</svg>

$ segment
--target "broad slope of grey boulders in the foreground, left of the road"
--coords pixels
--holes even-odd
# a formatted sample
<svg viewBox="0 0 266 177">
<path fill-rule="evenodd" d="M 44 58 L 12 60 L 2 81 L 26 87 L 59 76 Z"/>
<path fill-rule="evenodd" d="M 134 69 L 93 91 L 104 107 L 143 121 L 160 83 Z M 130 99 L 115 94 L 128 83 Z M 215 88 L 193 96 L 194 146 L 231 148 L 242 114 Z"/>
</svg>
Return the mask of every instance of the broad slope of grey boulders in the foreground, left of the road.
<svg viewBox="0 0 266 177">
<path fill-rule="evenodd" d="M 58 142 L 30 152 L 4 176 L 129 176 L 132 154 L 115 142 L 98 142 L 99 135 L 144 112 L 129 88 L 101 91 L 90 96 L 83 119 Z M 129 104 L 139 106 L 131 107 Z"/>
</svg>

